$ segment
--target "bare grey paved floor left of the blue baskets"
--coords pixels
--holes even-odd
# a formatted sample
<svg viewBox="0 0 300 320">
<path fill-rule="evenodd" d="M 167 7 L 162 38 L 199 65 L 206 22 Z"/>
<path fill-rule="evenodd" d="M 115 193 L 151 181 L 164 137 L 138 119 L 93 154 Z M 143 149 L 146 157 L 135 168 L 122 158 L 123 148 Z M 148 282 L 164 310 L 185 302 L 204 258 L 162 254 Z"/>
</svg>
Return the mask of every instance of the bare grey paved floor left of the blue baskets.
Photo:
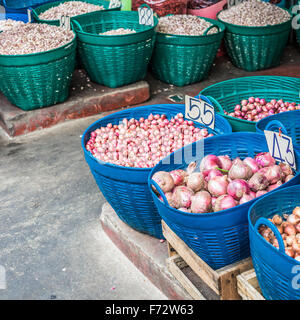
<svg viewBox="0 0 300 320">
<path fill-rule="evenodd" d="M 166 299 L 101 229 L 80 146 L 96 118 L 0 139 L 0 299 Z"/>
</svg>

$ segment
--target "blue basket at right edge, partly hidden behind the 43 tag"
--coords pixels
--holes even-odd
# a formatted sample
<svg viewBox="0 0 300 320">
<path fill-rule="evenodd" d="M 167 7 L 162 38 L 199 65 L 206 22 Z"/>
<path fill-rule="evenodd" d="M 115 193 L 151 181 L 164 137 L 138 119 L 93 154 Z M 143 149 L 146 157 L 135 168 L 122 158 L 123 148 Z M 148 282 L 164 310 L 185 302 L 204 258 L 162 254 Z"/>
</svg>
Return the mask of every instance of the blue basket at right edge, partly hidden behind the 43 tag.
<svg viewBox="0 0 300 320">
<path fill-rule="evenodd" d="M 264 118 L 256 123 L 256 131 L 281 131 L 293 139 L 293 147 L 300 152 L 300 110 L 287 111 Z"/>
</svg>

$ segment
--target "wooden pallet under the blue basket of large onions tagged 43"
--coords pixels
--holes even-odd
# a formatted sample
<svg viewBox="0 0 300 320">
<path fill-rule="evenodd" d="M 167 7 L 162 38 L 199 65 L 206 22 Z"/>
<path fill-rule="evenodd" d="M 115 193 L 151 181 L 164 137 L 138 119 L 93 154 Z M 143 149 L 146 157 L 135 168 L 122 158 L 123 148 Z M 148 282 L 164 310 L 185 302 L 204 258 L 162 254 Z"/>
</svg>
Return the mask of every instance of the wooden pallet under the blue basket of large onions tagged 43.
<svg viewBox="0 0 300 320">
<path fill-rule="evenodd" d="M 205 299 L 198 288 L 181 272 L 188 265 L 201 280 L 215 292 L 221 300 L 240 300 L 237 291 L 237 275 L 253 268 L 252 259 L 247 258 L 218 270 L 213 270 L 196 253 L 194 253 L 162 221 L 163 234 L 168 243 L 169 258 L 167 265 L 170 272 L 189 292 L 193 299 Z"/>
</svg>

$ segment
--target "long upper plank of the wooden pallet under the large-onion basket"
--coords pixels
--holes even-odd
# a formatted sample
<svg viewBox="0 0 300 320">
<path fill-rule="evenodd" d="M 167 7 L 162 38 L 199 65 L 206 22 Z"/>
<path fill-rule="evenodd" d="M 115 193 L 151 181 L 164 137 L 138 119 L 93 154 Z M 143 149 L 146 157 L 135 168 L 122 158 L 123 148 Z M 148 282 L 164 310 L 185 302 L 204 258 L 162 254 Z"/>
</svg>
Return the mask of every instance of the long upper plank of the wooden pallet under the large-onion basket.
<svg viewBox="0 0 300 320">
<path fill-rule="evenodd" d="M 162 221 L 162 230 L 167 241 L 176 248 L 181 258 L 210 288 L 219 294 L 218 273 L 194 253 L 164 221 Z"/>
</svg>

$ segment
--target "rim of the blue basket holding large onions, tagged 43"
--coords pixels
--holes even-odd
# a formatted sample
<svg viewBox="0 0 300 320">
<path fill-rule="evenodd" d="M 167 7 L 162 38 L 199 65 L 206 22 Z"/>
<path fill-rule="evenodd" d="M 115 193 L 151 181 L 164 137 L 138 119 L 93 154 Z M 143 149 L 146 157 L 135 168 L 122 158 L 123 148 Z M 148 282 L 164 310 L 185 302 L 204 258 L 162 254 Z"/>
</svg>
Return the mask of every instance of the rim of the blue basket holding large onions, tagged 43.
<svg viewBox="0 0 300 320">
<path fill-rule="evenodd" d="M 211 139 L 216 139 L 216 138 L 218 138 L 218 137 L 222 137 L 222 138 L 226 138 L 226 137 L 232 137 L 232 136 L 234 136 L 234 135 L 256 135 L 256 136 L 261 136 L 261 137 L 264 137 L 264 134 L 261 134 L 261 133 L 259 133 L 259 132 L 233 132 L 233 133 L 229 133 L 229 134 L 222 134 L 222 135 L 220 135 L 220 136 L 215 136 L 215 137 L 209 137 L 209 138 L 205 138 L 205 141 L 210 141 Z M 200 141 L 203 141 L 203 140 L 200 140 Z M 196 142 L 193 142 L 193 144 L 195 144 L 195 143 L 197 143 L 197 141 Z M 203 144 L 205 144 L 205 142 L 203 142 Z M 183 150 L 184 149 L 184 147 L 183 148 L 181 148 L 181 149 L 178 149 L 178 151 L 180 152 L 180 150 Z M 177 150 L 176 150 L 177 151 Z M 175 152 L 176 152 L 175 151 Z M 174 152 L 172 152 L 172 153 L 174 153 Z M 297 157 L 300 157 L 300 154 L 298 153 L 298 152 L 295 152 L 295 154 L 297 155 Z M 150 180 L 152 179 L 152 176 L 153 176 L 153 174 L 154 174 L 154 170 L 156 169 L 156 167 L 159 165 L 159 164 L 161 164 L 162 163 L 162 160 L 160 160 L 152 169 L 151 169 L 151 172 L 150 172 L 150 174 L 148 175 L 148 186 L 149 186 L 149 188 L 150 188 L 150 192 L 151 192 L 151 194 L 152 194 L 152 196 L 153 197 L 156 197 L 157 199 L 158 199 L 158 197 L 157 197 L 157 195 L 154 193 L 154 191 L 152 190 L 152 188 L 151 188 L 151 186 L 150 186 Z M 299 174 L 300 174 L 300 168 L 299 168 Z M 290 181 L 292 181 L 292 180 L 294 180 L 296 178 L 296 176 L 294 177 L 294 178 L 292 178 Z M 283 184 L 284 185 L 284 184 Z M 300 187 L 300 186 L 299 186 Z M 280 190 L 278 190 L 280 188 Z M 287 187 L 286 187 L 287 188 Z M 280 187 L 278 187 L 278 189 L 276 190 L 276 191 L 279 191 L 279 192 L 281 192 L 282 191 L 282 188 L 281 188 L 281 186 Z M 273 194 L 273 192 L 275 192 L 275 191 L 269 191 L 266 195 L 268 195 L 268 194 Z M 262 196 L 259 196 L 258 198 L 254 198 L 254 199 L 252 199 L 252 200 L 250 200 L 250 201 L 248 201 L 248 202 L 245 202 L 245 203 L 243 203 L 243 204 L 239 204 L 239 205 L 237 205 L 237 206 L 235 206 L 235 207 L 232 207 L 232 208 L 229 208 L 229 209 L 226 209 L 226 210 L 221 210 L 221 211 L 217 211 L 217 212 L 207 212 L 207 213 L 193 213 L 193 212 L 184 212 L 184 211 L 180 211 L 180 210 L 178 210 L 178 209 L 176 209 L 176 208 L 172 208 L 170 205 L 166 205 L 163 201 L 161 201 L 161 203 L 162 203 L 162 205 L 164 206 L 164 207 L 166 207 L 168 210 L 171 210 L 174 214 L 176 214 L 176 215 L 184 215 L 184 216 L 187 216 L 187 217 L 199 217 L 199 219 L 201 219 L 201 217 L 203 217 L 203 218 L 207 218 L 207 217 L 210 217 L 210 216 L 221 216 L 221 215 L 226 215 L 226 214 L 230 214 L 231 212 L 232 212 L 232 210 L 233 209 L 235 209 L 235 208 L 245 208 L 246 206 L 249 206 L 249 204 L 252 204 L 252 205 L 254 205 L 256 202 L 257 202 L 257 199 L 261 199 L 261 198 L 263 198 L 263 197 L 265 197 L 266 195 L 262 195 Z M 159 199 L 158 199 L 158 201 L 160 201 Z M 251 206 L 252 206 L 251 205 Z"/>
</svg>

